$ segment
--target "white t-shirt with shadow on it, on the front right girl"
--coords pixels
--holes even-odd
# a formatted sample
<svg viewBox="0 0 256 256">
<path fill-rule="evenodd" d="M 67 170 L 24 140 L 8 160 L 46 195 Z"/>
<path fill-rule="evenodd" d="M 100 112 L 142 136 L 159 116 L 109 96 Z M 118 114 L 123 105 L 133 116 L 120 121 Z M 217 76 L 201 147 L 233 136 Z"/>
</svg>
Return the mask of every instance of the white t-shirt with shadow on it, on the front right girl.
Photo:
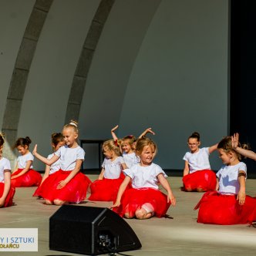
<svg viewBox="0 0 256 256">
<path fill-rule="evenodd" d="M 219 178 L 219 190 L 221 194 L 238 194 L 240 185 L 238 182 L 238 173 L 243 170 L 247 176 L 247 167 L 243 162 L 236 165 L 224 165 L 216 173 Z"/>
</svg>

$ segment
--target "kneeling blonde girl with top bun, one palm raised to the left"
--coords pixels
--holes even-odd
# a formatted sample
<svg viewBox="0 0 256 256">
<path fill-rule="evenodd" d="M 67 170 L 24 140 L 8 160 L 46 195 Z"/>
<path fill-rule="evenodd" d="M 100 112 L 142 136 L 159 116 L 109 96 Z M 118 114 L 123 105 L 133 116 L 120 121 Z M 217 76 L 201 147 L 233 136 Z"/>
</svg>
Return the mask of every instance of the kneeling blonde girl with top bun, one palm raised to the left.
<svg viewBox="0 0 256 256">
<path fill-rule="evenodd" d="M 33 150 L 35 157 L 49 166 L 60 159 L 61 169 L 49 175 L 39 188 L 38 195 L 45 198 L 45 204 L 78 204 L 86 198 L 86 191 L 91 183 L 89 178 L 80 172 L 85 152 L 76 141 L 79 136 L 76 121 L 71 120 L 66 124 L 62 135 L 66 145 L 60 147 L 50 160 L 37 153 L 37 145 Z"/>
</svg>

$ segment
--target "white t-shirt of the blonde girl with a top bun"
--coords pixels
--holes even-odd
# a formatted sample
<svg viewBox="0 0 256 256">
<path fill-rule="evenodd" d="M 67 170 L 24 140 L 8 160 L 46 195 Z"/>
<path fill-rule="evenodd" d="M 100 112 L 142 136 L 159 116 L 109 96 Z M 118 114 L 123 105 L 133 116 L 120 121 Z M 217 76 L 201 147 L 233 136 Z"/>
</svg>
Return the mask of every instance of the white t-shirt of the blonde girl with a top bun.
<svg viewBox="0 0 256 256">
<path fill-rule="evenodd" d="M 61 170 L 74 170 L 76 167 L 76 160 L 84 160 L 86 153 L 80 146 L 69 148 L 65 145 L 60 147 L 54 154 L 57 157 L 60 157 Z"/>
</svg>

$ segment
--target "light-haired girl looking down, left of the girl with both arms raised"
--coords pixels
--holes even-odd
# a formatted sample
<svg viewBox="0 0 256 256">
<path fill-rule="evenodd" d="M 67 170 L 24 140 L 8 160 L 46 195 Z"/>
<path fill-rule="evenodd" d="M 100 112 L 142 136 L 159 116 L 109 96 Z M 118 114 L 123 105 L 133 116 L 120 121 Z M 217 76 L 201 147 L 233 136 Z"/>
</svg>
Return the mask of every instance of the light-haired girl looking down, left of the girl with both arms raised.
<svg viewBox="0 0 256 256">
<path fill-rule="evenodd" d="M 123 157 L 120 157 L 120 149 L 116 146 L 114 140 L 107 140 L 103 143 L 103 153 L 106 156 L 102 165 L 103 169 L 99 174 L 99 180 L 91 184 L 89 200 L 116 200 L 120 184 L 123 182 L 123 176 L 120 176 L 120 174 L 127 167 Z"/>
</svg>

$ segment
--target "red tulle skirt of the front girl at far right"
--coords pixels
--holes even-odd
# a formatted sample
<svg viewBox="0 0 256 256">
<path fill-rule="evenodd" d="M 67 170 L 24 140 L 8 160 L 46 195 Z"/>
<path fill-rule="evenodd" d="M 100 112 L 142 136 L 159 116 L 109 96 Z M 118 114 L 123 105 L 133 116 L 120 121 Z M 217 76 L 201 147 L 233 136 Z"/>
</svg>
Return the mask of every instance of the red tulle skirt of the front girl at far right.
<svg viewBox="0 0 256 256">
<path fill-rule="evenodd" d="M 256 220 L 256 198 L 246 196 L 239 205 L 237 195 L 207 192 L 194 208 L 199 208 L 197 222 L 204 224 L 248 224 Z"/>
</svg>

